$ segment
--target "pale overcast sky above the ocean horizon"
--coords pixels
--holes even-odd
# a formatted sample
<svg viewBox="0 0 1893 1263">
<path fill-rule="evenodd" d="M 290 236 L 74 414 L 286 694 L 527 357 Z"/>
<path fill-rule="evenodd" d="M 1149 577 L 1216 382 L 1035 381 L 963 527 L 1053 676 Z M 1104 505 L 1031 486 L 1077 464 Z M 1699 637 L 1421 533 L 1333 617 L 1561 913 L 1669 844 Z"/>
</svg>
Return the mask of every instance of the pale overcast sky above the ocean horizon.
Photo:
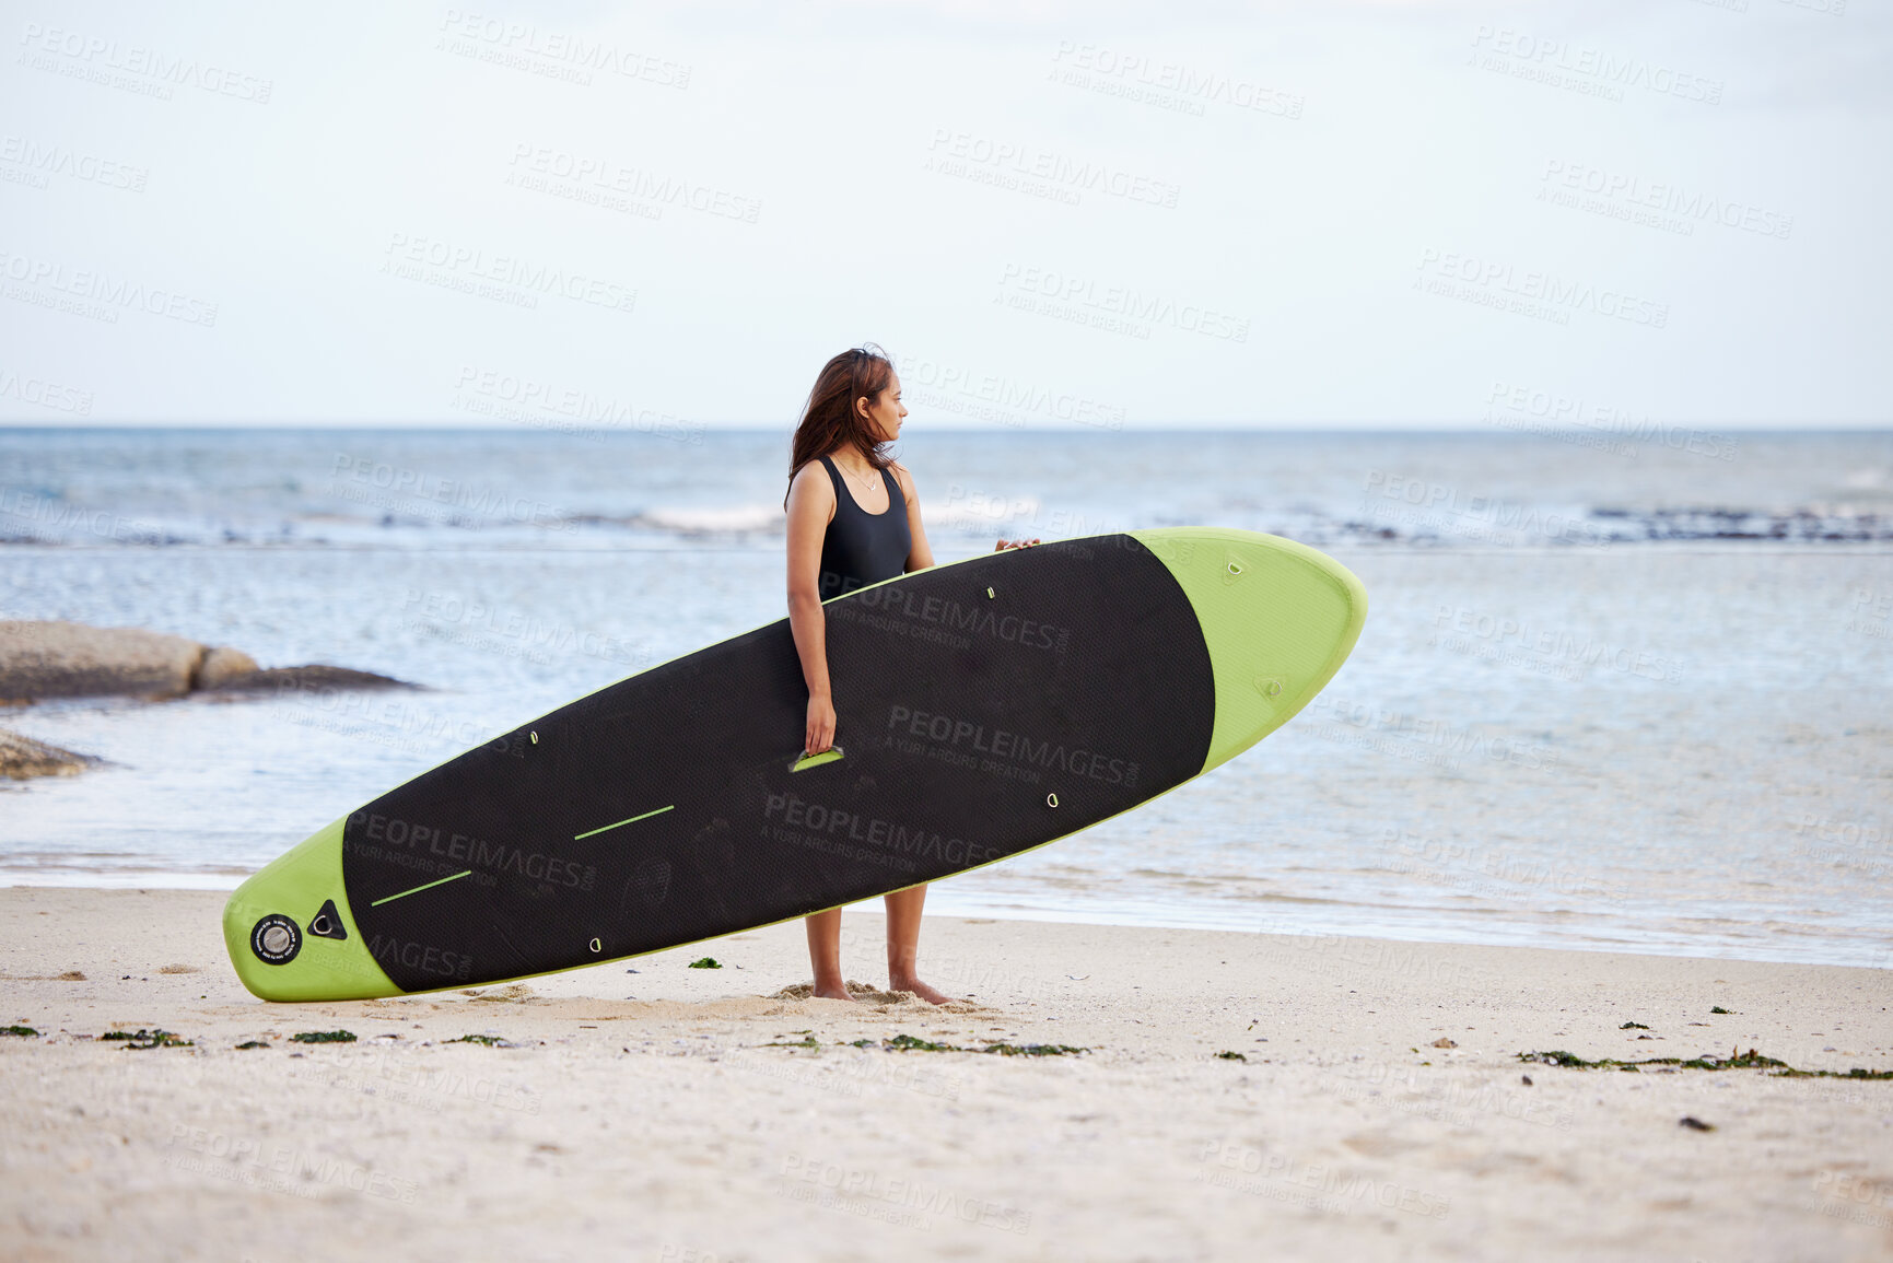
<svg viewBox="0 0 1893 1263">
<path fill-rule="evenodd" d="M 1893 418 L 1882 0 L 4 4 L 0 418 Z"/>
</svg>

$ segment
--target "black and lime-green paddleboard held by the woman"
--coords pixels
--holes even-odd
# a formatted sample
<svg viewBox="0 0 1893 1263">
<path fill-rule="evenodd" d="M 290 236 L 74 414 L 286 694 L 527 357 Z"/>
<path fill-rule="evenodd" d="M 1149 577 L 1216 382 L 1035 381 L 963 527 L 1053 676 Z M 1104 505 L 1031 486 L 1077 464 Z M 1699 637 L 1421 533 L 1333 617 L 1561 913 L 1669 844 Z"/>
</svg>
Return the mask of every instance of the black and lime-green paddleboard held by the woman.
<svg viewBox="0 0 1893 1263">
<path fill-rule="evenodd" d="M 1236 757 L 1335 676 L 1359 579 L 1159 528 L 823 602 L 837 748 L 787 619 L 540 716 L 333 820 L 223 909 L 265 1000 L 479 987 L 998 863 Z"/>
</svg>

